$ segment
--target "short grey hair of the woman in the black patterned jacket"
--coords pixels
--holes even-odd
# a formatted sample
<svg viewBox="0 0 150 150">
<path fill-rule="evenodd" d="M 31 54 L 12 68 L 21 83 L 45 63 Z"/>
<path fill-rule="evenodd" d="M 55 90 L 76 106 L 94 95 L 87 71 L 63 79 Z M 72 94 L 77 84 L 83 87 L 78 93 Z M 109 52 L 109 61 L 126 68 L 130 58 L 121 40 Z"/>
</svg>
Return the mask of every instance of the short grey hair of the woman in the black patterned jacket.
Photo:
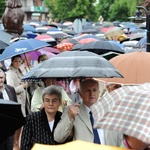
<svg viewBox="0 0 150 150">
<path fill-rule="evenodd" d="M 61 92 L 61 87 L 57 85 L 50 85 L 42 90 L 42 99 L 44 100 L 44 96 L 52 95 L 55 94 L 58 96 L 59 101 L 61 102 L 62 100 L 62 92 Z"/>
</svg>

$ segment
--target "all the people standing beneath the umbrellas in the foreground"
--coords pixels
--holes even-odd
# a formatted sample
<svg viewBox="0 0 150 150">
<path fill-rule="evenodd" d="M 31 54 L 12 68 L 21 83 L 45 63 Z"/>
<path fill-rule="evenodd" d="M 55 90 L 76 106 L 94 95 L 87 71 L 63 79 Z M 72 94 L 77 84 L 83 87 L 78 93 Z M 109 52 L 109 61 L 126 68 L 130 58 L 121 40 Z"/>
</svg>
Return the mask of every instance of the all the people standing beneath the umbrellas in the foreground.
<svg viewBox="0 0 150 150">
<path fill-rule="evenodd" d="M 47 59 L 46 55 L 41 55 L 38 63 Z M 26 118 L 23 127 L 1 141 L 1 150 L 30 150 L 35 143 L 57 145 L 73 140 L 135 150 L 149 149 L 148 144 L 129 135 L 93 128 L 90 107 L 102 96 L 98 80 L 74 79 L 68 93 L 55 78 L 44 78 L 40 83 L 22 82 L 27 68 L 32 67 L 29 64 L 30 59 L 17 55 L 11 58 L 6 72 L 0 70 L 0 98 L 21 104 Z M 121 86 L 107 85 L 106 91 L 111 92 Z"/>
</svg>

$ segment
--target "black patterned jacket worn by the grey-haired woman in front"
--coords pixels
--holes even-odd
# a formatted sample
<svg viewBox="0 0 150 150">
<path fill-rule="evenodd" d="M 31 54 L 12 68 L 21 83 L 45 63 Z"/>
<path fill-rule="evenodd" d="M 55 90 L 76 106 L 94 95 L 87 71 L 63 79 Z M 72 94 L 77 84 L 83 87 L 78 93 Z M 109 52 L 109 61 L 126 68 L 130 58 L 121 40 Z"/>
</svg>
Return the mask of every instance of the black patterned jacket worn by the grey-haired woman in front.
<svg viewBox="0 0 150 150">
<path fill-rule="evenodd" d="M 54 127 L 51 132 L 44 108 L 26 117 L 21 137 L 21 150 L 30 150 L 35 143 L 56 144 L 53 138 L 54 129 L 61 118 L 61 112 L 55 115 Z"/>
</svg>

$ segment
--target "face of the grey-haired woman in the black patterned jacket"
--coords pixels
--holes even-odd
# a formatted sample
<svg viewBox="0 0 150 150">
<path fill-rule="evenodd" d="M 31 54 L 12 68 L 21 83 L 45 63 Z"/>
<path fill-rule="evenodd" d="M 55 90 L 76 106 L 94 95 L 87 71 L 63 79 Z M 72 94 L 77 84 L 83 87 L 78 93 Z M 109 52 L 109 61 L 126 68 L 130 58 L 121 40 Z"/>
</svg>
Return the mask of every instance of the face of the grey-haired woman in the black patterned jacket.
<svg viewBox="0 0 150 150">
<path fill-rule="evenodd" d="M 61 102 L 57 95 L 55 94 L 46 94 L 43 100 L 44 108 L 46 113 L 55 114 L 58 111 Z"/>
</svg>

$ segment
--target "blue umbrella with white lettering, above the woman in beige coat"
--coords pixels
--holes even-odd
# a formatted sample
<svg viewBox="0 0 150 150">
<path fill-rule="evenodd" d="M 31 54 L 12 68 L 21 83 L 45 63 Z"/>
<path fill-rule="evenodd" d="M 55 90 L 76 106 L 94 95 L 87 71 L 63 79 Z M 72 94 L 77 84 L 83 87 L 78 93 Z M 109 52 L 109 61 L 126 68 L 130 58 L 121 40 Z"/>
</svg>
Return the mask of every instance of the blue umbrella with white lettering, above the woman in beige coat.
<svg viewBox="0 0 150 150">
<path fill-rule="evenodd" d="M 17 42 L 14 42 L 4 50 L 4 52 L 0 56 L 0 61 L 11 58 L 19 54 L 31 52 L 46 46 L 50 46 L 50 45 L 44 41 L 40 41 L 37 39 L 19 40 Z"/>
</svg>

